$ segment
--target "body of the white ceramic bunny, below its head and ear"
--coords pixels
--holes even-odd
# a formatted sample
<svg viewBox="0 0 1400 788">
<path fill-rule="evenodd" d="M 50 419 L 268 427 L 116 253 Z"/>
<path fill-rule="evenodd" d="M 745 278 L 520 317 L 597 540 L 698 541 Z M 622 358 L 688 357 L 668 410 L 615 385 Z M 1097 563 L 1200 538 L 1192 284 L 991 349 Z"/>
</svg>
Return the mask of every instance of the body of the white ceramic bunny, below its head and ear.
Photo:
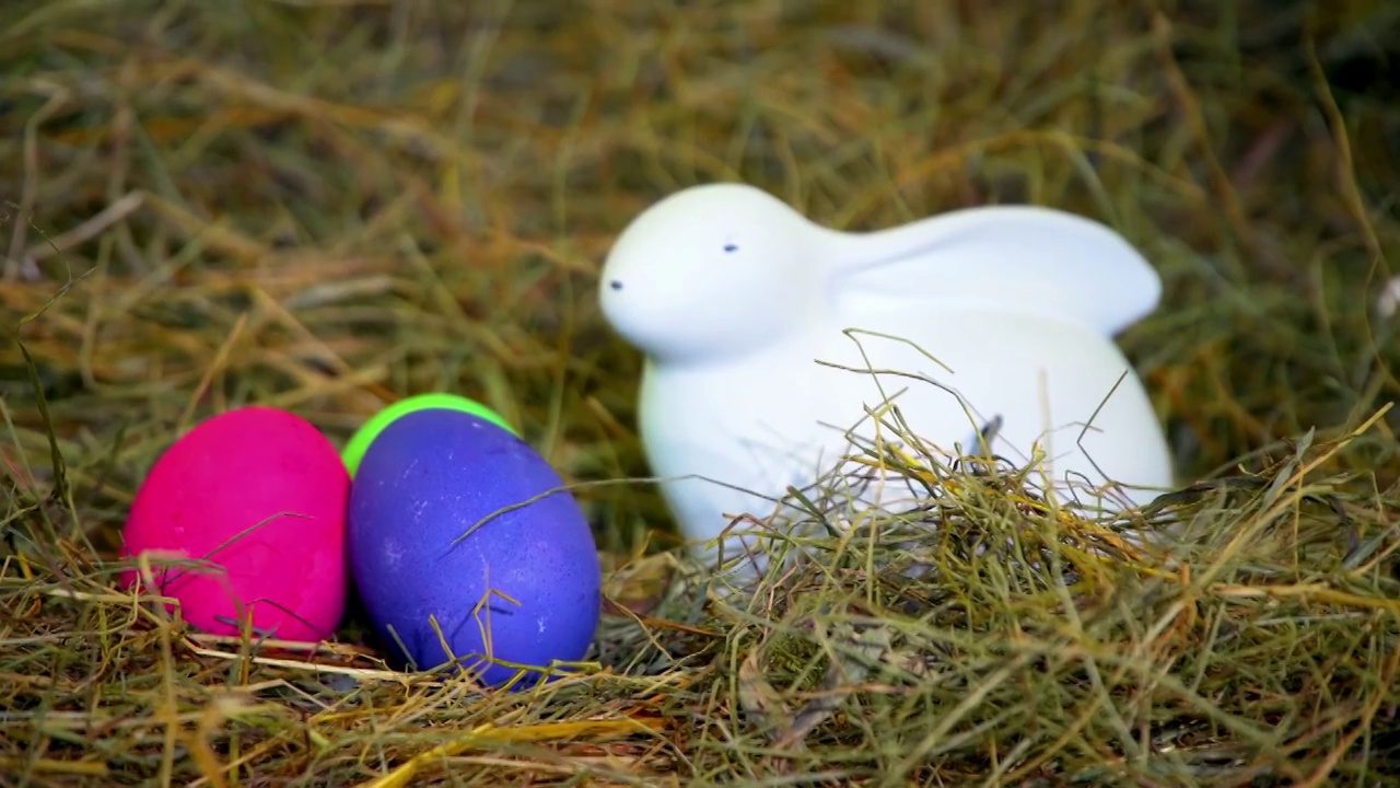
<svg viewBox="0 0 1400 788">
<path fill-rule="evenodd" d="M 857 348 L 837 325 L 725 365 L 722 376 L 707 367 L 647 366 L 638 426 L 652 471 L 704 477 L 662 482 L 662 494 L 690 538 L 714 538 L 731 517 L 743 513 L 766 517 L 788 485 L 811 485 L 853 450 L 847 430 L 865 440 L 874 440 L 876 432 L 895 440 L 889 416 L 886 426 L 864 416 L 865 408 L 878 411 L 886 401 L 900 409 L 910 432 L 945 457 L 953 456 L 955 443 L 974 453 L 977 429 L 1001 416 L 991 451 L 1023 466 L 1032 446 L 1039 444 L 1046 478 L 1032 475 L 1030 481 L 1057 484 L 1061 495 L 1065 487 L 1077 487 L 1081 498 L 1092 498 L 1092 488 L 1107 481 L 1105 475 L 1140 485 L 1172 484 L 1151 402 L 1112 342 L 1079 325 L 1040 317 L 1002 318 L 990 338 L 970 328 L 986 320 L 979 314 L 888 317 L 871 328 L 917 342 L 953 372 L 882 337 L 855 334 Z M 1026 332 L 1036 342 L 1007 342 L 997 338 L 1001 332 Z M 1056 342 L 1077 352 L 1046 353 Z M 895 373 L 851 372 L 867 369 L 867 358 L 871 369 L 921 373 L 956 394 Z M 1120 381 L 1124 372 L 1130 374 Z M 1092 428 L 1085 432 L 1091 418 Z M 899 492 L 885 488 L 879 503 L 897 508 L 900 499 L 890 494 Z M 1154 495 L 1123 492 L 1134 503 Z"/>
</svg>

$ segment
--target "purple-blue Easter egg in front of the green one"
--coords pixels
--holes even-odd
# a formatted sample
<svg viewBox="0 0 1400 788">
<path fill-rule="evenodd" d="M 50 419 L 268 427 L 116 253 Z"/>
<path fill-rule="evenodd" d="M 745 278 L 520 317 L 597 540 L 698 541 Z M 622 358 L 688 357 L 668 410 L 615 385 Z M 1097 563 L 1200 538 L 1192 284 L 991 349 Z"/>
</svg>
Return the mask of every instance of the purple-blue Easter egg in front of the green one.
<svg viewBox="0 0 1400 788">
<path fill-rule="evenodd" d="M 525 670 L 518 688 L 552 660 L 584 658 L 602 572 L 563 484 L 519 436 L 473 414 L 417 411 L 379 433 L 350 489 L 347 540 L 360 599 L 395 659 L 456 660 L 491 686 Z"/>
</svg>

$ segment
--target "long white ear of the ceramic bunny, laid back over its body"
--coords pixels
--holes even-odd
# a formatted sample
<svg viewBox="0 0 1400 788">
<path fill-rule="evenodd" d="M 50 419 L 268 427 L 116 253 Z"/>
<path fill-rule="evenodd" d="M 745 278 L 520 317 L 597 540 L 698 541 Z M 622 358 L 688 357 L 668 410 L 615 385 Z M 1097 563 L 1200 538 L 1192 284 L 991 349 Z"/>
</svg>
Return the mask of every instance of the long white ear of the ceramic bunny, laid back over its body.
<svg viewBox="0 0 1400 788">
<path fill-rule="evenodd" d="M 979 306 L 1088 322 L 1119 334 L 1156 308 L 1162 280 L 1105 224 L 1037 206 L 959 209 L 829 247 L 834 297 L 930 308 Z"/>
</svg>

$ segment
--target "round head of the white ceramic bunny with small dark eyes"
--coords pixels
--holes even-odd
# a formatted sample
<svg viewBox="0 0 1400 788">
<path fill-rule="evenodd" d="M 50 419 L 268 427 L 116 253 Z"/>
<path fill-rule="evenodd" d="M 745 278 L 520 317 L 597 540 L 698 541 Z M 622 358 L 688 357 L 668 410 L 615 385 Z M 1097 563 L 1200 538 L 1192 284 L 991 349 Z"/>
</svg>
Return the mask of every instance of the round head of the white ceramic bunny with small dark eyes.
<svg viewBox="0 0 1400 788">
<path fill-rule="evenodd" d="M 664 198 L 603 262 L 603 317 L 661 362 L 732 359 L 818 314 L 825 229 L 762 189 L 706 184 Z"/>
</svg>

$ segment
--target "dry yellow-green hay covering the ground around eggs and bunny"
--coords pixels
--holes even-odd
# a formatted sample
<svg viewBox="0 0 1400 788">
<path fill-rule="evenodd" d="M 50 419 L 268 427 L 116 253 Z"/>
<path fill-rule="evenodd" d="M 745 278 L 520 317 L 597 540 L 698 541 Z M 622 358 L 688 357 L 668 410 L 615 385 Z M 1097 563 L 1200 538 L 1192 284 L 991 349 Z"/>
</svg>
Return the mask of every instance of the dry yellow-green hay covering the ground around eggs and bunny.
<svg viewBox="0 0 1400 788">
<path fill-rule="evenodd" d="M 0 785 L 1396 780 L 1400 10 L 976 8 L 6 3 Z M 596 271 L 734 178 L 848 229 L 1117 227 L 1166 280 L 1121 342 L 1183 489 L 1103 523 L 886 458 L 937 536 L 875 513 L 717 595 L 651 487 L 582 487 L 595 663 L 515 694 L 388 670 L 356 616 L 253 649 L 119 590 L 146 468 L 239 404 L 340 442 L 458 391 L 570 481 L 645 475 Z"/>
</svg>

